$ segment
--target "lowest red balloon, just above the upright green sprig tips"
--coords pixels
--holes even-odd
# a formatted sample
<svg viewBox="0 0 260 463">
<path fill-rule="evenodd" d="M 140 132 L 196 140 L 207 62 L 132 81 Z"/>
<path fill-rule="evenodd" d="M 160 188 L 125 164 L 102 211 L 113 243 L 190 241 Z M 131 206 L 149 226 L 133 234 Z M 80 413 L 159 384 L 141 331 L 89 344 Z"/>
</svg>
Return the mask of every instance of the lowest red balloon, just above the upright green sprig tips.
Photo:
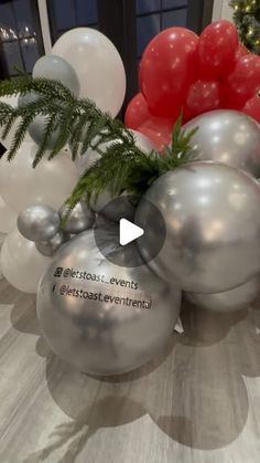
<svg viewBox="0 0 260 463">
<path fill-rule="evenodd" d="M 174 123 L 175 120 L 173 119 L 151 116 L 138 128 L 138 131 L 150 138 L 158 150 L 162 151 L 165 145 L 167 146 L 172 139 Z"/>
</svg>

